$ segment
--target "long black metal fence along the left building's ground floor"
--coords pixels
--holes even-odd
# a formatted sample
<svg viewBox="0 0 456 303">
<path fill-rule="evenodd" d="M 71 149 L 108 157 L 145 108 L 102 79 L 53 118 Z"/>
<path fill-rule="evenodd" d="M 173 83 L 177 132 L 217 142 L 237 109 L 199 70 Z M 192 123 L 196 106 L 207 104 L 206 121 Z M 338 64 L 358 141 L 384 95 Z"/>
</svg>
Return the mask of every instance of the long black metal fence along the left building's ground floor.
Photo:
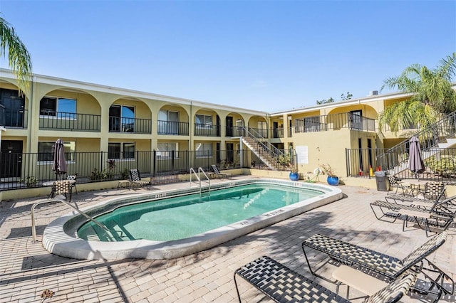
<svg viewBox="0 0 456 303">
<path fill-rule="evenodd" d="M 122 180 L 129 178 L 130 169 L 138 169 L 141 177 L 160 182 L 170 176 L 187 174 L 190 167 L 202 167 L 210 171 L 212 164 L 220 169 L 267 166 L 249 149 L 206 151 L 135 151 L 129 159 L 109 159 L 107 151 L 66 153 L 67 175 L 78 174 L 78 183 Z M 0 189 L 41 187 L 44 182 L 66 175 L 56 176 L 52 170 L 51 153 L 0 153 Z M 286 170 L 285 165 L 280 169 Z"/>
</svg>

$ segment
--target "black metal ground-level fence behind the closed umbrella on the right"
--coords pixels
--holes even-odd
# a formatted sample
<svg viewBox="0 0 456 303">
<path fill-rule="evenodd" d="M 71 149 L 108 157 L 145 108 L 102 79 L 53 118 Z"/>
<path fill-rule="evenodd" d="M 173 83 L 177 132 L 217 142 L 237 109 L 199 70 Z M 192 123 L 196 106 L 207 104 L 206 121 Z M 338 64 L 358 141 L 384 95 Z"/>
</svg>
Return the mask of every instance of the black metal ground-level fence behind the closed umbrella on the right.
<svg viewBox="0 0 456 303">
<path fill-rule="evenodd" d="M 432 148 L 422 152 L 425 171 L 415 174 L 408 169 L 408 150 L 396 149 L 346 149 L 347 176 L 370 177 L 380 169 L 400 179 L 420 179 L 456 184 L 456 149 Z"/>
</svg>

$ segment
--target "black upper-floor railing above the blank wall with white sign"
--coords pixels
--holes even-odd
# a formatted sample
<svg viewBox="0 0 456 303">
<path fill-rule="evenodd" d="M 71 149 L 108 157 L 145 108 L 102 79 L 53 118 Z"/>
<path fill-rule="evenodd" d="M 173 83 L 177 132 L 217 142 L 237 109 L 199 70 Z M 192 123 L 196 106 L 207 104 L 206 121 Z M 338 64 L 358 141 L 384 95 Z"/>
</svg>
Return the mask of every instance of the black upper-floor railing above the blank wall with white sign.
<svg viewBox="0 0 456 303">
<path fill-rule="evenodd" d="M 351 112 L 341 114 L 306 117 L 294 120 L 294 131 L 326 132 L 328 129 L 338 130 L 348 128 L 366 132 L 375 132 L 375 119 L 363 117 Z"/>
</svg>

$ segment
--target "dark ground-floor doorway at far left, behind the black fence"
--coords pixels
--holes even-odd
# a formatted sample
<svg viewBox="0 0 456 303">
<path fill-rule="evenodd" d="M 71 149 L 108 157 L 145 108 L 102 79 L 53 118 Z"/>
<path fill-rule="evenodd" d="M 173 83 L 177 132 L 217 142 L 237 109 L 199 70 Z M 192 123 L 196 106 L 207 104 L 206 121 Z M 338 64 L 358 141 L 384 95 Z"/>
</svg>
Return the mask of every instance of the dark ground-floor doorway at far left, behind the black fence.
<svg viewBox="0 0 456 303">
<path fill-rule="evenodd" d="M 22 141 L 1 140 L 0 179 L 14 181 L 22 171 Z"/>
</svg>

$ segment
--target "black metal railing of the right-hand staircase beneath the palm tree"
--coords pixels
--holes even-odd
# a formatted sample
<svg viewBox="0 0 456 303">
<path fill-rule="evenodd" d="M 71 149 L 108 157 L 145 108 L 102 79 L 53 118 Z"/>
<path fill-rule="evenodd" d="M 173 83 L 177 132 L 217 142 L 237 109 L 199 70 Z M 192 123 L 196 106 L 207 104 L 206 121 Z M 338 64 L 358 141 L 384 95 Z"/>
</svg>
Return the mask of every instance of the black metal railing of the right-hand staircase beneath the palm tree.
<svg viewBox="0 0 456 303">
<path fill-rule="evenodd" d="M 429 127 L 413 134 L 413 136 L 420 140 L 422 151 L 430 151 L 432 148 L 438 147 L 439 143 L 445 142 L 446 138 L 453 137 L 455 134 L 456 112 L 452 112 Z M 409 139 L 396 144 L 378 156 L 378 163 L 381 169 L 392 170 L 408 160 Z"/>
</svg>

